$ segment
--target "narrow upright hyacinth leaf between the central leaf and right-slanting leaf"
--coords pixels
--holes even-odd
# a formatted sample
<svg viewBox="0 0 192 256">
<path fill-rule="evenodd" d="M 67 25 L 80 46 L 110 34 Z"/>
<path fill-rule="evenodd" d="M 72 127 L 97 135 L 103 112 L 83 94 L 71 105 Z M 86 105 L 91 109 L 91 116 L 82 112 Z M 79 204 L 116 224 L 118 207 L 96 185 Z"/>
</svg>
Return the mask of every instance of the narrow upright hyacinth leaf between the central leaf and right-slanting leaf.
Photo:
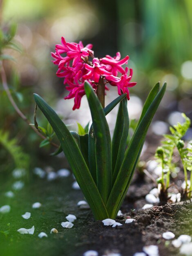
<svg viewBox="0 0 192 256">
<path fill-rule="evenodd" d="M 129 116 L 127 112 L 127 99 L 120 102 L 114 135 L 112 140 L 112 166 L 113 166 L 113 184 L 118 175 L 118 171 L 123 162 L 125 149 L 127 146 L 127 136 L 129 132 Z"/>
</svg>

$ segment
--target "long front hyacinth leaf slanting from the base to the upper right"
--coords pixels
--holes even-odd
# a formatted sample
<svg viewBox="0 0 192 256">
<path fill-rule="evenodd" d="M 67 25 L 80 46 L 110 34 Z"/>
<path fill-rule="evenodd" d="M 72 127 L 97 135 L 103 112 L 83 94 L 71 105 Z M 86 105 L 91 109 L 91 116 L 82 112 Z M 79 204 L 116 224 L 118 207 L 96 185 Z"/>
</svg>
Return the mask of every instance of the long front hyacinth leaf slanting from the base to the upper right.
<svg viewBox="0 0 192 256">
<path fill-rule="evenodd" d="M 165 89 L 166 83 L 164 83 L 161 90 L 156 94 L 151 104 L 148 105 L 148 109 L 145 109 L 145 115 L 143 115 L 143 118 L 140 119 L 140 123 L 136 128 L 129 147 L 125 152 L 125 157 L 121 165 L 121 169 L 119 170 L 118 176 L 106 204 L 110 218 L 116 218 L 117 211 L 120 208 L 123 199 L 125 198 L 127 189 L 134 173 L 135 164 L 138 161 L 138 155 L 140 154 L 142 145 L 145 141 L 147 130 L 161 102 L 161 99 L 163 98 Z"/>
</svg>

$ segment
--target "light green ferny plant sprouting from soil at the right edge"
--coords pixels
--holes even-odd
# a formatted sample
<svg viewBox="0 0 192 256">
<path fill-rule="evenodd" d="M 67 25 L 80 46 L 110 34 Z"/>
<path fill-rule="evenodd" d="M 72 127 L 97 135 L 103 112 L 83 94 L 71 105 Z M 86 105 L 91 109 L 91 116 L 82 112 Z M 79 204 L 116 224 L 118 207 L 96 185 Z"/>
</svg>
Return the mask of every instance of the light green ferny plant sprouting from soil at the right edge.
<svg viewBox="0 0 192 256">
<path fill-rule="evenodd" d="M 170 174 L 174 170 L 175 165 L 172 162 L 175 148 L 178 149 L 181 162 L 183 164 L 183 171 L 185 175 L 185 190 L 182 193 L 183 198 L 191 198 L 192 191 L 192 172 L 190 175 L 190 184 L 188 184 L 188 171 L 192 171 L 192 147 L 184 147 L 185 143 L 182 140 L 183 136 L 190 127 L 190 119 L 182 113 L 185 122 L 170 127 L 171 135 L 165 134 L 163 137 L 165 140 L 161 141 L 162 146 L 158 147 L 155 156 L 157 157 L 162 167 L 162 175 L 158 178 L 157 182 L 161 184 L 160 200 L 167 200 L 167 189 L 170 187 Z"/>
</svg>

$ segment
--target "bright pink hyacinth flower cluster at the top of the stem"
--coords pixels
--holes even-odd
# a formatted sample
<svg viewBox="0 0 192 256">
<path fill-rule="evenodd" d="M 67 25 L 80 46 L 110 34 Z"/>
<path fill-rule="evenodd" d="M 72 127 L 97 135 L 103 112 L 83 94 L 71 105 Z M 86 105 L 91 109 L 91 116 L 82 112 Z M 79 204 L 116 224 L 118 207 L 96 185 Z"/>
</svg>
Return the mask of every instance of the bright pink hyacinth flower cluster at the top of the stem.
<svg viewBox="0 0 192 256">
<path fill-rule="evenodd" d="M 116 86 L 118 94 L 127 93 L 129 100 L 129 87 L 136 85 L 131 82 L 133 71 L 125 69 L 122 65 L 127 64 L 129 56 L 121 59 L 120 52 L 115 57 L 106 55 L 104 58 L 95 58 L 92 50 L 93 45 L 88 44 L 85 47 L 79 43 L 66 43 L 65 38 L 61 38 L 61 44 L 56 45 L 56 52 L 51 53 L 54 58 L 53 63 L 58 65 L 57 76 L 64 78 L 64 84 L 69 95 L 65 99 L 74 98 L 73 110 L 80 107 L 80 101 L 85 95 L 84 84 L 88 81 L 94 91 L 98 92 L 100 78 L 103 79 L 103 90 L 109 90 L 107 83 Z M 129 71 L 129 74 L 128 74 Z M 104 103 L 103 103 L 104 104 Z"/>
</svg>

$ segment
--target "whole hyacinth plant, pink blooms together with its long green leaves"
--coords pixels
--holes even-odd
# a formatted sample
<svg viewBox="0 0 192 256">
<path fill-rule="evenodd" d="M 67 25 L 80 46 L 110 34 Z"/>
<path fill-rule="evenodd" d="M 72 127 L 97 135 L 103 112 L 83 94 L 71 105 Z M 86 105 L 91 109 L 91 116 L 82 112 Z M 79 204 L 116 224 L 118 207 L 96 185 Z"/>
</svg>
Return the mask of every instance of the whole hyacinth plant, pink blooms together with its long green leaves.
<svg viewBox="0 0 192 256">
<path fill-rule="evenodd" d="M 129 116 L 127 99 L 132 70 L 122 67 L 128 56 L 120 60 L 106 55 L 95 58 L 92 45 L 80 43 L 56 45 L 52 53 L 54 64 L 58 65 L 57 76 L 64 77 L 67 99 L 74 98 L 74 108 L 80 107 L 80 101 L 86 94 L 92 115 L 92 124 L 78 130 L 69 131 L 56 112 L 38 95 L 34 94 L 37 106 L 43 112 L 60 141 L 60 147 L 67 158 L 80 189 L 82 190 L 96 220 L 116 218 L 127 193 L 136 164 L 138 162 L 147 130 L 165 93 L 166 83 L 160 89 L 156 83 L 143 106 L 141 117 L 131 141 L 127 145 L 129 134 Z M 116 86 L 118 94 L 105 107 L 107 83 Z M 114 134 L 111 138 L 106 115 L 119 105 Z"/>
</svg>

